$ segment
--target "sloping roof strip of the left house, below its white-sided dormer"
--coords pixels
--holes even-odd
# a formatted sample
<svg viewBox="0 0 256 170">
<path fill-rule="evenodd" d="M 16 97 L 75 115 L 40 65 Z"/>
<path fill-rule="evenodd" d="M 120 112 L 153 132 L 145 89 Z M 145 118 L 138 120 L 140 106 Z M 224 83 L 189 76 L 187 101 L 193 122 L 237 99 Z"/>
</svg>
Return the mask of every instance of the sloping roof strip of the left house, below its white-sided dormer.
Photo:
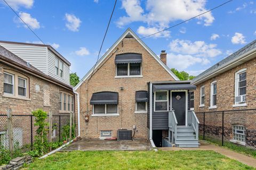
<svg viewBox="0 0 256 170">
<path fill-rule="evenodd" d="M 1 60 L 7 64 L 11 63 L 11 65 L 15 66 L 17 69 L 26 70 L 28 73 L 33 73 L 33 75 L 36 75 L 39 78 L 43 78 L 44 80 L 72 90 L 71 86 L 62 83 L 59 80 L 50 77 L 49 75 L 44 74 L 42 71 L 36 69 L 36 67 L 34 67 L 33 65 L 27 63 L 25 60 L 22 60 L 22 58 L 18 57 L 17 55 L 13 54 L 12 52 L 0 45 L 0 61 Z"/>
</svg>

